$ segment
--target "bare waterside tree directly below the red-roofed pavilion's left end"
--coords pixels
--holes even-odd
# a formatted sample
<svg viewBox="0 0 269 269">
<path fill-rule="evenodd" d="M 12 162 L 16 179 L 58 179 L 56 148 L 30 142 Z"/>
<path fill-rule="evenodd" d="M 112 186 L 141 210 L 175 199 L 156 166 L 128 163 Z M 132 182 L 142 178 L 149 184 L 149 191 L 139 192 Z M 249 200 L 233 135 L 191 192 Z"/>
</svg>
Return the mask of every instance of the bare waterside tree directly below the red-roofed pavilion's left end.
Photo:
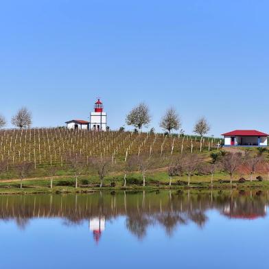
<svg viewBox="0 0 269 269">
<path fill-rule="evenodd" d="M 239 152 L 229 152 L 222 157 L 222 168 L 229 174 L 231 183 L 233 183 L 233 174 L 237 171 L 241 164 L 242 154 Z"/>
</svg>

